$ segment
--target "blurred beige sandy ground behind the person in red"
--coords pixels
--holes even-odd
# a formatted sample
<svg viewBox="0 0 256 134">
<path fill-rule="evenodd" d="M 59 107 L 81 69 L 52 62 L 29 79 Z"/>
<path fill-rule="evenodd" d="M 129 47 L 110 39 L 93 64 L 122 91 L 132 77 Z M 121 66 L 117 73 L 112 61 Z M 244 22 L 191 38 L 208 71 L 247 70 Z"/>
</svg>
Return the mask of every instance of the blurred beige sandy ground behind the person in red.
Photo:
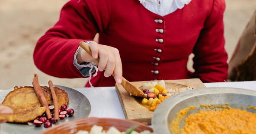
<svg viewBox="0 0 256 134">
<path fill-rule="evenodd" d="M 38 70 L 32 54 L 36 41 L 59 18 L 68 0 L 0 0 L 0 89 L 31 85 L 33 74 L 39 82 L 71 88 L 83 87 L 87 79 L 55 78 Z M 255 0 L 226 0 L 224 14 L 226 50 L 232 55 L 246 23 L 256 9 Z"/>
</svg>

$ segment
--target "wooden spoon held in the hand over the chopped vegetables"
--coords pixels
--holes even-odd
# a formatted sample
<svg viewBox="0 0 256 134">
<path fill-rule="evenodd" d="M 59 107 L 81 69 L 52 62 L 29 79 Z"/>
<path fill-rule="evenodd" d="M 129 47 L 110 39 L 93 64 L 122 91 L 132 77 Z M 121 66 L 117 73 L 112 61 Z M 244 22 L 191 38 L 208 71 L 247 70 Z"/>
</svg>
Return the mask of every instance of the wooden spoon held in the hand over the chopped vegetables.
<svg viewBox="0 0 256 134">
<path fill-rule="evenodd" d="M 87 46 L 83 41 L 79 43 L 79 46 L 82 47 L 87 53 L 89 53 L 92 56 L 92 52 L 90 50 L 90 47 Z M 99 57 L 96 59 L 97 62 L 99 62 Z M 114 74 L 112 74 L 114 76 Z M 139 88 L 135 87 L 133 84 L 131 84 L 129 81 L 127 81 L 124 77 L 122 77 L 122 83 L 121 85 L 125 88 L 126 92 L 130 93 L 133 96 L 136 97 L 144 97 L 147 98 L 145 93 L 143 93 Z"/>
</svg>

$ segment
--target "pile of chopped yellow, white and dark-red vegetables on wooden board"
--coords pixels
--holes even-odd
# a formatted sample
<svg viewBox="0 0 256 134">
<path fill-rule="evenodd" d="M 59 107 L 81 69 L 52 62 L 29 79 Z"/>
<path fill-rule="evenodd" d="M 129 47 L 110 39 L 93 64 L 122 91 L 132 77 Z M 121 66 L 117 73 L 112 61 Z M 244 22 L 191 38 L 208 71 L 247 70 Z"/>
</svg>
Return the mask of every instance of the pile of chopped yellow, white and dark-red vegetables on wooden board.
<svg viewBox="0 0 256 134">
<path fill-rule="evenodd" d="M 166 83 L 164 82 L 164 80 L 161 80 L 159 82 L 153 81 L 152 83 L 144 83 L 142 90 L 143 93 L 147 95 L 147 98 L 143 98 L 141 103 L 150 106 L 148 109 L 150 111 L 154 111 L 157 108 L 157 106 L 161 102 L 163 102 L 163 100 L 166 100 L 168 97 L 192 89 L 193 88 L 189 86 L 182 86 L 175 89 L 166 89 Z"/>
</svg>

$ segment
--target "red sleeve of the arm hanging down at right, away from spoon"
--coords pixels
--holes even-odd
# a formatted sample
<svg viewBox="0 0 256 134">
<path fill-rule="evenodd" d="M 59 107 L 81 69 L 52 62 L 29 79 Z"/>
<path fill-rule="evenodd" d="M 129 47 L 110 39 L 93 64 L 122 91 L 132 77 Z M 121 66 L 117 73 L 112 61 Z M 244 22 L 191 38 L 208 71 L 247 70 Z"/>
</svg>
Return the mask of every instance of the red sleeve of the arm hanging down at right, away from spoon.
<svg viewBox="0 0 256 134">
<path fill-rule="evenodd" d="M 227 53 L 224 48 L 224 0 L 214 0 L 210 16 L 204 24 L 197 44 L 193 49 L 193 78 L 203 82 L 227 80 Z"/>
</svg>

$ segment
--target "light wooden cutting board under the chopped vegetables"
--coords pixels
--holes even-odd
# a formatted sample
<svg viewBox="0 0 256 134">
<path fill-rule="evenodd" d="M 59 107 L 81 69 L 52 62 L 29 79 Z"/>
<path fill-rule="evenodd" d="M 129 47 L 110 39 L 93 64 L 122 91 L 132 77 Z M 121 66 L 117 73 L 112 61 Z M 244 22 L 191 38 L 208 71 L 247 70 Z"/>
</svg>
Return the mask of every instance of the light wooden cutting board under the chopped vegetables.
<svg viewBox="0 0 256 134">
<path fill-rule="evenodd" d="M 205 87 L 205 85 L 198 78 L 192 79 L 182 79 L 182 80 L 164 80 L 166 83 L 166 89 L 168 89 L 167 85 L 179 87 L 179 85 L 185 85 L 195 88 Z M 144 83 L 153 82 L 153 81 L 136 81 L 131 82 L 136 87 L 142 87 Z M 115 84 L 115 88 L 117 90 L 117 94 L 119 100 L 122 105 L 122 109 L 125 114 L 125 118 L 128 120 L 134 120 L 136 122 L 141 122 L 146 125 L 151 125 L 151 118 L 153 116 L 153 111 L 149 111 L 147 107 L 138 103 L 135 100 L 134 96 L 130 96 L 129 93 L 125 91 L 121 84 Z M 170 88 L 170 87 L 169 87 Z M 175 88 L 175 87 L 172 87 Z"/>
</svg>

